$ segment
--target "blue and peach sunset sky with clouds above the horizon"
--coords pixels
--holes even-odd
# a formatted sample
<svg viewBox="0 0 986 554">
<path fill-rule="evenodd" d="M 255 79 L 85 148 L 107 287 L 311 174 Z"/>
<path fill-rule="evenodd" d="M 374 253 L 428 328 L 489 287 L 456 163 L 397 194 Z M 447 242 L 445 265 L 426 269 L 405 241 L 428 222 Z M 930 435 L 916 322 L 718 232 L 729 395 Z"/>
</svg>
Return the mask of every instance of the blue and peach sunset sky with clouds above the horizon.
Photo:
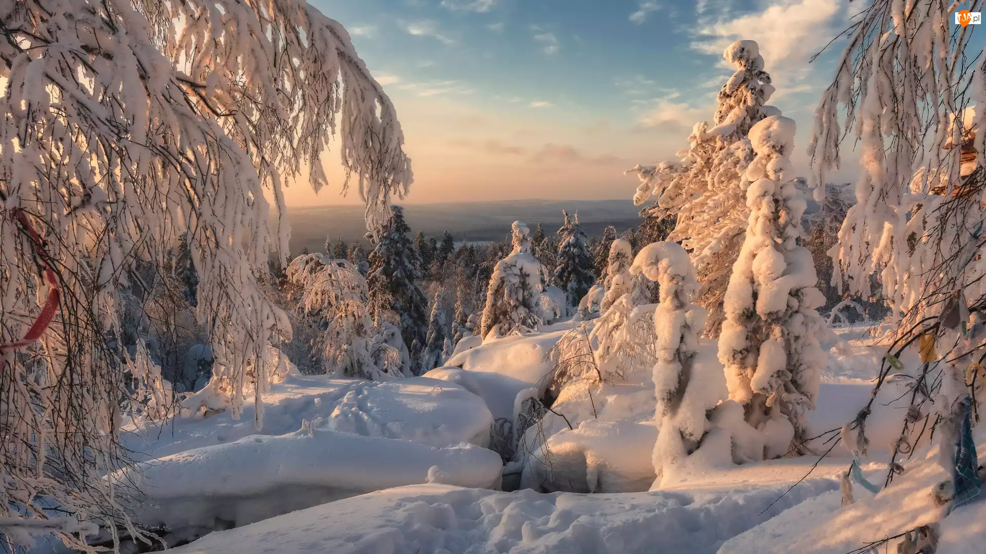
<svg viewBox="0 0 986 554">
<path fill-rule="evenodd" d="M 629 198 L 622 171 L 668 160 L 711 120 L 733 70 L 723 48 L 760 43 L 798 121 L 842 42 L 847 0 L 310 0 L 340 22 L 396 105 L 415 184 L 406 202 Z M 330 173 L 334 160 L 326 166 Z M 337 173 L 336 173 L 337 174 Z M 304 186 L 291 204 L 356 201 Z"/>
</svg>

